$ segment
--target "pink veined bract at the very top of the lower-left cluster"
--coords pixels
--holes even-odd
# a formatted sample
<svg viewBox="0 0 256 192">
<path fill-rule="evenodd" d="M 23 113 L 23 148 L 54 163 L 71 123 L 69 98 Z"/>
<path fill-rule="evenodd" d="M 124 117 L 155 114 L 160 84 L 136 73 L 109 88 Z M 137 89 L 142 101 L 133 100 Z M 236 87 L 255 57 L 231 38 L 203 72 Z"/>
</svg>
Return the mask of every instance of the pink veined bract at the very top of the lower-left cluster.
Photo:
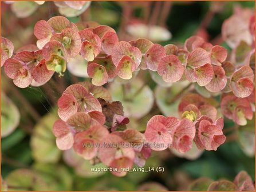
<svg viewBox="0 0 256 192">
<path fill-rule="evenodd" d="M 99 101 L 81 85 L 70 85 L 64 91 L 63 95 L 64 94 L 73 95 L 77 99 L 78 111 L 96 110 L 101 112 Z"/>
</svg>

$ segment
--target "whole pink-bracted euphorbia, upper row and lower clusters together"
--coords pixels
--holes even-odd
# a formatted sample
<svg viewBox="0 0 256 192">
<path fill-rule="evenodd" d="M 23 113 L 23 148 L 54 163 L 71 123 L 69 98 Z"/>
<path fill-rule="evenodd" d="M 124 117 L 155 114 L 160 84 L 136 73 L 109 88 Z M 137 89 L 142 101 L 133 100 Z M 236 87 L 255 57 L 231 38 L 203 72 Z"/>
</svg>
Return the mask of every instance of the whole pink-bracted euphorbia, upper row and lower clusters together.
<svg viewBox="0 0 256 192">
<path fill-rule="evenodd" d="M 115 168 L 113 174 L 123 176 L 127 170 L 122 168 L 131 168 L 133 163 L 144 166 L 151 150 L 170 148 L 187 153 L 193 145 L 199 150 L 217 150 L 226 141 L 223 115 L 238 125 L 246 125 L 247 119 L 253 118 L 250 61 L 254 43 L 246 44 L 249 51 L 243 58 L 239 46 L 248 42 L 239 42 L 229 55 L 225 47 L 198 36 L 188 38 L 184 46 L 162 46 L 144 38 L 120 41 L 109 26 L 83 24 L 61 16 L 38 21 L 34 27 L 38 48 L 23 47 L 14 55 L 12 43 L 1 38 L 5 73 L 18 87 L 34 85 L 33 81 L 42 85 L 55 72 L 61 78 L 70 61 L 86 61 L 92 83 L 66 87 L 57 102 L 60 119 L 53 125 L 53 134 L 60 150 L 73 147 L 82 158 L 102 162 Z M 248 27 L 251 30 L 252 26 Z M 142 70 L 149 71 L 157 86 L 166 89 L 164 97 L 170 98 L 164 104 L 176 103 L 175 115 L 167 115 L 159 102 L 161 114 L 153 113 L 153 93 L 137 77 Z M 171 95 L 168 88 L 175 82 L 186 85 Z M 122 92 L 122 101 L 115 101 L 115 94 L 103 87 L 106 84 L 115 94 Z M 220 95 L 220 104 L 213 97 L 204 97 L 206 94 Z M 142 103 L 147 105 L 142 115 L 135 113 Z M 145 114 L 149 117 L 144 127 L 132 127 L 135 125 L 130 119 Z"/>
</svg>

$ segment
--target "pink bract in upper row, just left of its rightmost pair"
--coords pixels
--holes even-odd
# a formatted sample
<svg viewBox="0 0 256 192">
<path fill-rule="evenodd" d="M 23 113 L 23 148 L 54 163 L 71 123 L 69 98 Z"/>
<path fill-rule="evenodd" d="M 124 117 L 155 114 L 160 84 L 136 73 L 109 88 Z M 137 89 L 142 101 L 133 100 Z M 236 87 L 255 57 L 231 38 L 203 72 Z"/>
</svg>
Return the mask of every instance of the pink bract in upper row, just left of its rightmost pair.
<svg viewBox="0 0 256 192">
<path fill-rule="evenodd" d="M 218 92 L 225 88 L 227 84 L 227 77 L 225 70 L 221 66 L 214 66 L 214 76 L 205 87 L 208 91 Z"/>
</svg>

